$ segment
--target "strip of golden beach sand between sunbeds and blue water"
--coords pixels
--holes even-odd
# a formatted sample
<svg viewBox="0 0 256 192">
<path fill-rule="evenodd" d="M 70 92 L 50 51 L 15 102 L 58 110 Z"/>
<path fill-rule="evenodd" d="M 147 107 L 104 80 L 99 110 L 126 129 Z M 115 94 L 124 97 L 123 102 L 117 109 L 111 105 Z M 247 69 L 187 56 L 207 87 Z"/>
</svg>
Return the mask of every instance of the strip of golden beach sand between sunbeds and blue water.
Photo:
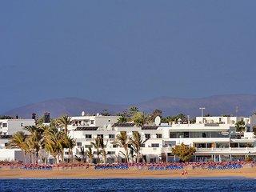
<svg viewBox="0 0 256 192">
<path fill-rule="evenodd" d="M 256 168 L 239 170 L 93 170 L 74 168 L 67 170 L 20 170 L 1 169 L 0 178 L 256 178 Z"/>
</svg>

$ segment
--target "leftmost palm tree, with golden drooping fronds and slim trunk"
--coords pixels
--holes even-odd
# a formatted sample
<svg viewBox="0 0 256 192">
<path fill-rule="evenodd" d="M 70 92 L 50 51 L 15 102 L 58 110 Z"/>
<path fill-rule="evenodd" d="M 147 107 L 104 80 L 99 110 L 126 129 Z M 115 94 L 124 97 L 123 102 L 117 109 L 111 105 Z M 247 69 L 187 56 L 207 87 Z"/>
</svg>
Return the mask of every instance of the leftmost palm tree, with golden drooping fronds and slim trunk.
<svg viewBox="0 0 256 192">
<path fill-rule="evenodd" d="M 17 133 L 13 134 L 10 138 L 10 142 L 8 147 L 10 148 L 19 148 L 23 151 L 24 154 L 24 162 L 26 164 L 26 153 L 27 153 L 27 146 L 26 146 L 26 134 L 23 131 L 18 131 Z"/>
</svg>

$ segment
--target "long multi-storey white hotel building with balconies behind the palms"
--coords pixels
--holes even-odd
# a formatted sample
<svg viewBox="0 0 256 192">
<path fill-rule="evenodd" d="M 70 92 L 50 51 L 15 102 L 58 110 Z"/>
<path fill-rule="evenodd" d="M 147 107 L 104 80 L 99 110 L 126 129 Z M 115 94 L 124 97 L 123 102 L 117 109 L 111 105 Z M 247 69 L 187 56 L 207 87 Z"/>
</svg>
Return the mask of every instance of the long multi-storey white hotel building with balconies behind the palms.
<svg viewBox="0 0 256 192">
<path fill-rule="evenodd" d="M 246 122 L 244 133 L 235 130 L 235 123 L 240 120 Z M 256 158 L 256 139 L 252 132 L 252 127 L 256 125 L 255 114 L 250 118 L 198 117 L 194 124 L 178 122 L 162 123 L 159 126 L 117 123 L 117 116 L 81 116 L 73 117 L 72 121 L 68 129 L 70 137 L 76 139 L 74 155 L 78 158 L 81 158 L 81 147 L 87 150 L 92 147 L 90 142 L 100 136 L 106 143 L 107 162 L 124 161 L 124 157 L 119 153 L 123 149 L 112 143 L 122 131 L 126 131 L 130 136 L 133 131 L 138 131 L 142 138 L 150 138 L 145 146 L 142 146 L 143 158 L 147 162 L 178 161 L 178 158 L 171 154 L 171 147 L 181 143 L 196 147 L 194 160 L 197 161 L 242 160 L 247 155 Z M 93 147 L 92 149 L 94 150 Z"/>
</svg>

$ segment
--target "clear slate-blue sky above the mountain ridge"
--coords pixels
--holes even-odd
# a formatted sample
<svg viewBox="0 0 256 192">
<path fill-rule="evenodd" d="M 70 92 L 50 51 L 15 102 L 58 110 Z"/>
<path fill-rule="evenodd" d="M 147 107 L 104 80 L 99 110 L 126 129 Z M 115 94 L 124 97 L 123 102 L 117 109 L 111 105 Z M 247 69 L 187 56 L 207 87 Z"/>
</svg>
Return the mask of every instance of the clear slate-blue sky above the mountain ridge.
<svg viewBox="0 0 256 192">
<path fill-rule="evenodd" d="M 0 112 L 255 94 L 256 1 L 0 2 Z"/>
</svg>

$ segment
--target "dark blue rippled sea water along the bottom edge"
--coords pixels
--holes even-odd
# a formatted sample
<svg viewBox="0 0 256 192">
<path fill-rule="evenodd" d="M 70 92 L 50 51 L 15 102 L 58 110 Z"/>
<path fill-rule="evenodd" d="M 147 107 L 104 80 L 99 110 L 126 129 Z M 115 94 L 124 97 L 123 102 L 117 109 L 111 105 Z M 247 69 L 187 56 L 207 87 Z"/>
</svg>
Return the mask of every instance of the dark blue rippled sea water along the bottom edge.
<svg viewBox="0 0 256 192">
<path fill-rule="evenodd" d="M 246 178 L 1 179 L 1 191 L 256 191 Z"/>
</svg>

